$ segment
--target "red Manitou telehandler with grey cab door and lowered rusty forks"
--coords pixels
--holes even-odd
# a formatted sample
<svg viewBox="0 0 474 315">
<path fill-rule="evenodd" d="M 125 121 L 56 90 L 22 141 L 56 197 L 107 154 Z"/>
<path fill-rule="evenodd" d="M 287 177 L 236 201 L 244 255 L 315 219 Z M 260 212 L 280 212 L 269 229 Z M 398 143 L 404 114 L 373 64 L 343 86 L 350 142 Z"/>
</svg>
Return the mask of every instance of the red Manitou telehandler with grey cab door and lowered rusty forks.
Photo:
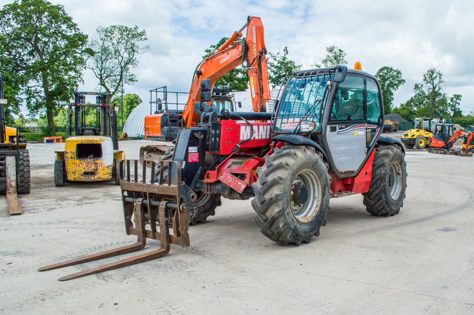
<svg viewBox="0 0 474 315">
<path fill-rule="evenodd" d="M 248 27 L 252 21 L 255 17 L 249 17 Z M 252 39 L 263 36 L 263 29 L 255 28 L 247 32 L 247 50 L 261 55 L 263 48 L 252 45 Z M 244 53 L 242 59 L 249 60 Z M 227 54 L 221 59 L 226 62 Z M 139 168 L 140 160 L 121 162 L 125 228 L 137 235 L 137 243 L 40 271 L 135 251 L 146 238 L 160 240 L 161 247 L 59 280 L 154 259 L 167 254 L 170 244 L 187 247 L 191 220 L 213 215 L 221 197 L 254 197 L 262 233 L 283 245 L 319 236 L 331 198 L 362 193 L 370 214 L 399 213 L 406 190 L 405 153 L 399 140 L 381 137 L 393 125 L 384 124 L 381 88 L 373 75 L 345 66 L 296 71 L 284 79 L 273 113 L 217 113 L 208 112 L 206 102 L 218 76 L 208 79 L 205 73 L 201 64 L 193 79 L 201 100 L 191 93 L 183 113 L 197 118 L 195 126 L 189 121 L 181 128 L 173 149 L 159 161 L 147 161 L 151 168 L 145 163 Z M 254 108 L 264 109 L 260 100 L 254 98 Z"/>
</svg>

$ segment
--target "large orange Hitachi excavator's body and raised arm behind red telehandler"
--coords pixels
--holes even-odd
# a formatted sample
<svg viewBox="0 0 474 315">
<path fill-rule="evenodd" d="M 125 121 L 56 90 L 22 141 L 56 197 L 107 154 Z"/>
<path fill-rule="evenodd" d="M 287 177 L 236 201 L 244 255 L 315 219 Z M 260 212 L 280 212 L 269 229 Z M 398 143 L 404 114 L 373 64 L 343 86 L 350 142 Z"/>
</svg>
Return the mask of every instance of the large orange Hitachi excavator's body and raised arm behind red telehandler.
<svg viewBox="0 0 474 315">
<path fill-rule="evenodd" d="M 247 32 L 243 39 L 245 28 Z M 260 17 L 247 17 L 247 23 L 240 30 L 198 64 L 183 111 L 158 108 L 155 114 L 146 116 L 145 139 L 173 141 L 181 128 L 195 127 L 201 114 L 216 112 L 216 108 L 209 105 L 214 82 L 238 66 L 248 71 L 254 112 L 265 112 L 270 100 L 266 53 L 262 20 Z"/>
</svg>

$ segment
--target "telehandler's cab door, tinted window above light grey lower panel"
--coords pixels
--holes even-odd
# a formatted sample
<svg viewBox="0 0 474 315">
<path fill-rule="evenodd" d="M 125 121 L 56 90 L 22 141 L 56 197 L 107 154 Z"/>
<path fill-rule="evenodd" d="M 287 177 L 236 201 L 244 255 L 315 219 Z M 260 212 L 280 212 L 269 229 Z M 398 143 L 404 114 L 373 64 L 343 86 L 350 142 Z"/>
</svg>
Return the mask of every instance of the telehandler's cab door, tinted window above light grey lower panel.
<svg viewBox="0 0 474 315">
<path fill-rule="evenodd" d="M 367 152 L 365 77 L 347 73 L 337 84 L 326 126 L 329 154 L 341 174 L 354 173 Z"/>
</svg>

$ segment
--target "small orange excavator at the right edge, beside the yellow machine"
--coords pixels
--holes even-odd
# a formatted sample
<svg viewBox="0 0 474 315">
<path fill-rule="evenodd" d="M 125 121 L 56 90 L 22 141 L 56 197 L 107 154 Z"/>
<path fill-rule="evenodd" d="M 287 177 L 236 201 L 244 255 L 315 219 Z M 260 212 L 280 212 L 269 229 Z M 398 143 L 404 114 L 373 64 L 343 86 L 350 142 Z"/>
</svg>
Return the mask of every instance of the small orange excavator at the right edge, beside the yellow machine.
<svg viewBox="0 0 474 315">
<path fill-rule="evenodd" d="M 452 123 L 437 123 L 435 125 L 435 132 L 429 138 L 429 146 L 431 148 L 428 149 L 428 152 L 472 157 L 473 151 L 469 147 L 474 144 L 474 132 L 465 129 L 454 130 L 455 128 Z M 461 136 L 466 136 L 464 140 L 466 146 L 461 150 L 452 149 L 456 140 Z"/>
</svg>

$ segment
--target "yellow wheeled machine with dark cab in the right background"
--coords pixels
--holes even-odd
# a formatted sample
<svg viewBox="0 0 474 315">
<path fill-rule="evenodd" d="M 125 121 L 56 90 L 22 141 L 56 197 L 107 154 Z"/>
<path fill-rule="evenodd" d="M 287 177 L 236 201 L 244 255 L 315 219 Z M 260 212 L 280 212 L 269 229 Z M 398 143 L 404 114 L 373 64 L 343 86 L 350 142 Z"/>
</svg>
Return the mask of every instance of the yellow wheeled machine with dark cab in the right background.
<svg viewBox="0 0 474 315">
<path fill-rule="evenodd" d="M 403 133 L 401 142 L 406 149 L 425 149 L 429 146 L 428 140 L 433 135 L 435 125 L 442 119 L 413 118 L 413 128 Z"/>
</svg>

